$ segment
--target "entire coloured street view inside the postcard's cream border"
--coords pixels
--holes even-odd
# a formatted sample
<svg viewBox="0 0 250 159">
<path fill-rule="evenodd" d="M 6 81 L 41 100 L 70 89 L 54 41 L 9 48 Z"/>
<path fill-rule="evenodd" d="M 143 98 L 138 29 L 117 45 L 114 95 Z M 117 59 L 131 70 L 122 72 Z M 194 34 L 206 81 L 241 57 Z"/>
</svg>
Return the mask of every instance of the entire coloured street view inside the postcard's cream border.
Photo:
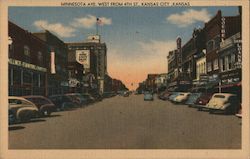
<svg viewBox="0 0 250 159">
<path fill-rule="evenodd" d="M 9 149 L 241 149 L 240 6 L 8 16 Z"/>
</svg>

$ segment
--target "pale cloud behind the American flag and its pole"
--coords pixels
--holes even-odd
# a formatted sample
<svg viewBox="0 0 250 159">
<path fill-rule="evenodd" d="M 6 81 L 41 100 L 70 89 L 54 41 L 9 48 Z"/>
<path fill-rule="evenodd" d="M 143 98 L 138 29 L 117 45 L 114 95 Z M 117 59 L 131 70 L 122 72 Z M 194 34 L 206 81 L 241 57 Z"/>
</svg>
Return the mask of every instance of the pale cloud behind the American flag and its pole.
<svg viewBox="0 0 250 159">
<path fill-rule="evenodd" d="M 90 29 L 93 28 L 96 25 L 96 16 L 93 15 L 87 15 L 82 18 L 75 18 L 72 26 L 77 27 L 77 28 L 86 28 Z M 111 18 L 106 18 L 106 17 L 99 17 L 101 23 L 100 25 L 111 25 L 112 24 L 112 19 Z"/>
</svg>

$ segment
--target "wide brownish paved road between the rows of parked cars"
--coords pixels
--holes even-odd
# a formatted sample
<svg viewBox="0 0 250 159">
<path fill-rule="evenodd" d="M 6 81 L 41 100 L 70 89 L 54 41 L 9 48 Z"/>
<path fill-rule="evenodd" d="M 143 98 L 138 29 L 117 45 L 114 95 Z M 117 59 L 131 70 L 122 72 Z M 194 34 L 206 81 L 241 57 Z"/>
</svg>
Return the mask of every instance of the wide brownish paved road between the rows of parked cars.
<svg viewBox="0 0 250 159">
<path fill-rule="evenodd" d="M 116 96 L 86 108 L 9 128 L 11 149 L 240 148 L 240 119 L 142 95 Z"/>
</svg>

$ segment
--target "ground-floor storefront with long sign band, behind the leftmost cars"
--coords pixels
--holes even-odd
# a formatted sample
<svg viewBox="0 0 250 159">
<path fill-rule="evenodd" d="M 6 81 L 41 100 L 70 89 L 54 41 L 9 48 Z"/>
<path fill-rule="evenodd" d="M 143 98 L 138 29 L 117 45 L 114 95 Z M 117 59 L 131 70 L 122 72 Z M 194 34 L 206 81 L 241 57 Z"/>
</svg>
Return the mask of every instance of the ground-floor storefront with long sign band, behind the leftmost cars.
<svg viewBox="0 0 250 159">
<path fill-rule="evenodd" d="M 9 59 L 9 95 L 45 95 L 47 69 L 15 59 Z"/>
</svg>

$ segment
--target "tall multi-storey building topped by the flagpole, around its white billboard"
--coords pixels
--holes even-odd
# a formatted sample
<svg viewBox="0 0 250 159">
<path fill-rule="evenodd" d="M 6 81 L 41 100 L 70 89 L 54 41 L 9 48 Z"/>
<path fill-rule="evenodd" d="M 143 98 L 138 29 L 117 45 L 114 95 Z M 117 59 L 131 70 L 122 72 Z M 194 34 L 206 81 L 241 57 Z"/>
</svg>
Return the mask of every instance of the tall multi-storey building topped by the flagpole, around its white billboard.
<svg viewBox="0 0 250 159">
<path fill-rule="evenodd" d="M 84 79 L 93 79 L 93 88 L 87 86 L 90 91 L 104 92 L 104 78 L 107 74 L 107 47 L 100 42 L 99 36 L 89 36 L 86 42 L 67 43 L 70 52 L 84 52 L 89 61 L 84 64 Z M 86 79 L 87 78 L 87 79 Z"/>
</svg>

